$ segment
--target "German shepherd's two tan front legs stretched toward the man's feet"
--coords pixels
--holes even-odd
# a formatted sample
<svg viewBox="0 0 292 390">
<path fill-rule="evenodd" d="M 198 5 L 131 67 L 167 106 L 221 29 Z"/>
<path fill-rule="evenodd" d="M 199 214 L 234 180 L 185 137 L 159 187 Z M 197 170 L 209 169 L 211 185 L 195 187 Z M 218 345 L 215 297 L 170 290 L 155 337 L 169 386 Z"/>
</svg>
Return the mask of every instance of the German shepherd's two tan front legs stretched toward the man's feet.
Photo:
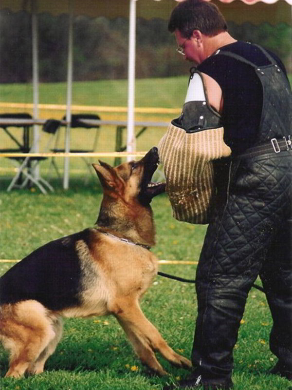
<svg viewBox="0 0 292 390">
<path fill-rule="evenodd" d="M 173 351 L 163 339 L 159 331 L 147 320 L 141 311 L 138 302 L 131 305 L 127 303 L 125 309 L 123 305 L 118 305 L 119 310 L 115 313 L 119 323 L 128 335 L 134 350 L 143 363 L 152 370 L 163 375 L 166 372 L 157 361 L 153 351 L 159 351 L 170 363 L 190 368 L 191 362 L 185 357 Z"/>
</svg>

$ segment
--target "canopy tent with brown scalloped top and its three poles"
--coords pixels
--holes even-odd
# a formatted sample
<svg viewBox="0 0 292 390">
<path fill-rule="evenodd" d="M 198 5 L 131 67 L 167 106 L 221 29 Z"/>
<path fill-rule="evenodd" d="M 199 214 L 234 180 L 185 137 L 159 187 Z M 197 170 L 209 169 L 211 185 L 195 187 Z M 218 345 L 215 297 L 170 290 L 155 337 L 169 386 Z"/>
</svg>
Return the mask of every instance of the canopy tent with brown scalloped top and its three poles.
<svg viewBox="0 0 292 390">
<path fill-rule="evenodd" d="M 0 0 L 0 9 L 8 8 L 12 12 L 25 10 L 32 13 L 32 45 L 33 45 L 33 91 L 34 112 L 38 117 L 38 41 L 37 14 L 49 12 L 53 15 L 69 14 L 68 70 L 67 70 L 67 122 L 71 121 L 72 82 L 73 82 L 73 17 L 86 15 L 89 17 L 104 16 L 107 18 L 129 18 L 128 43 L 128 130 L 127 151 L 134 151 L 134 105 L 135 105 L 135 32 L 136 18 L 168 19 L 177 1 L 182 0 Z M 237 23 L 250 21 L 259 24 L 268 21 L 271 24 L 286 22 L 291 24 L 292 0 L 214 0 L 226 20 Z M 253 5 L 252 12 L 249 5 Z M 38 129 L 35 126 L 35 139 Z M 66 146 L 70 150 L 70 126 L 67 127 Z M 37 151 L 37 145 L 35 145 Z M 69 157 L 65 157 L 64 183 L 69 187 Z"/>
</svg>

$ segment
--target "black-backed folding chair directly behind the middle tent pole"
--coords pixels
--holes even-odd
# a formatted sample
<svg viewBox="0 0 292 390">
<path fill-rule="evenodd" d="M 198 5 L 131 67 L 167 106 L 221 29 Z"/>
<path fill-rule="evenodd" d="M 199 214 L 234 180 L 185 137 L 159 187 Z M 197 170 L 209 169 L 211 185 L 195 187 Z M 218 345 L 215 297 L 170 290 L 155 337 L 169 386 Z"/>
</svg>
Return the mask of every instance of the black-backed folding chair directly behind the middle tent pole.
<svg viewBox="0 0 292 390">
<path fill-rule="evenodd" d="M 100 117 L 98 115 L 95 115 L 95 114 L 72 114 L 72 116 L 71 116 L 71 126 L 70 127 L 72 129 L 75 129 L 75 128 L 96 129 L 95 130 L 95 135 L 93 137 L 92 147 L 91 147 L 91 149 L 83 149 L 83 148 L 71 149 L 70 148 L 70 152 L 71 153 L 95 152 L 96 147 L 97 147 L 97 142 L 98 142 L 98 137 L 99 137 L 99 130 L 98 129 L 99 129 L 100 126 L 99 125 L 87 124 L 85 122 L 82 122 L 82 119 L 99 120 Z M 66 120 L 66 116 L 64 116 L 62 118 L 62 120 Z M 55 147 L 54 147 L 54 149 L 51 149 L 51 151 L 54 152 L 54 153 L 64 153 L 65 149 L 58 148 L 57 147 L 58 143 L 59 143 L 59 134 L 57 135 L 56 140 L 55 140 Z M 80 158 L 82 158 L 82 160 L 85 162 L 85 164 L 86 164 L 87 168 L 89 169 L 90 173 L 93 174 L 93 171 L 91 169 L 91 162 L 89 161 L 88 157 L 80 156 Z M 52 157 L 52 165 L 54 166 L 57 175 L 60 177 L 57 165 L 55 164 L 55 158 L 54 157 Z"/>
</svg>

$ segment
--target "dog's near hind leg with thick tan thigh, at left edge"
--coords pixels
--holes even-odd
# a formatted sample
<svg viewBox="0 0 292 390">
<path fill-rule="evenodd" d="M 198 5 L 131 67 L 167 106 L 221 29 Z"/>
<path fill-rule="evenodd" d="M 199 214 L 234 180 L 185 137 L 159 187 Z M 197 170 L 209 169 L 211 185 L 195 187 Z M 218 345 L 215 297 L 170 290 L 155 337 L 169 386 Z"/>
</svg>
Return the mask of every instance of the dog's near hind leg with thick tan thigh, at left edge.
<svg viewBox="0 0 292 390">
<path fill-rule="evenodd" d="M 47 310 L 33 300 L 2 308 L 0 325 L 3 346 L 10 351 L 6 377 L 22 376 L 55 338 Z"/>
</svg>

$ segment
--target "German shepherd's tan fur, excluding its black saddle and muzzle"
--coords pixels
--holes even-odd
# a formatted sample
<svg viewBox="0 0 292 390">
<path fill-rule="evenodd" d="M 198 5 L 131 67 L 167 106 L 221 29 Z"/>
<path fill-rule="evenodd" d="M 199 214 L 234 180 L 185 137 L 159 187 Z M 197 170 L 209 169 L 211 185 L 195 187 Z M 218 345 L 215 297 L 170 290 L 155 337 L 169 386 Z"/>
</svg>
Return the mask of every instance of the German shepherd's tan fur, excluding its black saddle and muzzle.
<svg viewBox="0 0 292 390">
<path fill-rule="evenodd" d="M 61 316 L 113 314 L 134 351 L 149 368 L 165 374 L 154 351 L 177 366 L 191 367 L 188 359 L 166 344 L 139 306 L 139 299 L 157 273 L 156 257 L 146 248 L 118 238 L 146 245 L 153 245 L 155 241 L 151 209 L 142 206 L 137 199 L 146 167 L 141 162 L 134 173 L 130 167 L 130 163 L 116 168 L 105 163 L 94 165 L 104 187 L 100 216 L 106 217 L 105 220 L 109 218 L 110 222 L 108 226 L 91 228 L 88 243 L 80 239 L 74 244 L 81 263 L 82 304 L 60 311 L 48 310 L 36 300 L 0 307 L 0 340 L 10 351 L 6 376 L 43 371 L 45 361 L 61 338 Z M 101 217 L 99 221 L 103 225 Z M 64 245 L 69 240 L 65 237 Z"/>
</svg>

